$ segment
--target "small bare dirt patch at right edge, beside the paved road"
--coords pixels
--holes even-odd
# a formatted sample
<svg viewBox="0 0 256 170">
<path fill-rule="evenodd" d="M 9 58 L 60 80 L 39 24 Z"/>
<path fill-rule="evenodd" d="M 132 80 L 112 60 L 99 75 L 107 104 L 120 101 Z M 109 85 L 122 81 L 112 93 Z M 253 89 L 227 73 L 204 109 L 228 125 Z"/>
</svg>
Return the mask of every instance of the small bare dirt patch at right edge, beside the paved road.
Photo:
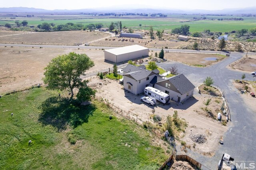
<svg viewBox="0 0 256 170">
<path fill-rule="evenodd" d="M 231 68 L 247 73 L 256 71 L 256 55 L 250 55 L 249 57 L 246 57 L 242 61 L 235 63 Z"/>
</svg>

